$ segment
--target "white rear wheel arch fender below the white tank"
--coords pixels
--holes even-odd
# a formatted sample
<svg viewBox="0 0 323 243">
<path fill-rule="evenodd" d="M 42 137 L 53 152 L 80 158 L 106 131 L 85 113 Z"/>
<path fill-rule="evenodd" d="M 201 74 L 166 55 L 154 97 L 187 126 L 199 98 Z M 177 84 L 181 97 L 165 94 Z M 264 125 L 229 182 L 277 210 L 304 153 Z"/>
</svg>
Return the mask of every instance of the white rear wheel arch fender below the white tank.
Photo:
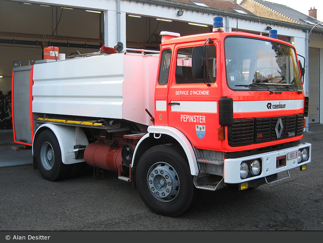
<svg viewBox="0 0 323 243">
<path fill-rule="evenodd" d="M 78 129 L 78 132 L 76 132 Z M 73 152 L 74 145 L 82 144 L 82 145 L 89 145 L 89 141 L 80 127 L 72 127 L 72 126 L 63 126 L 63 125 L 56 125 L 56 124 L 42 124 L 39 126 L 35 132 L 33 143 L 32 143 L 32 154 L 34 156 L 34 148 L 35 144 L 37 143 L 37 139 L 39 135 L 44 130 L 51 130 L 51 132 L 55 135 L 60 152 L 62 154 L 62 162 L 64 164 L 73 164 L 84 162 L 84 158 L 82 159 L 75 159 L 75 153 Z"/>
</svg>

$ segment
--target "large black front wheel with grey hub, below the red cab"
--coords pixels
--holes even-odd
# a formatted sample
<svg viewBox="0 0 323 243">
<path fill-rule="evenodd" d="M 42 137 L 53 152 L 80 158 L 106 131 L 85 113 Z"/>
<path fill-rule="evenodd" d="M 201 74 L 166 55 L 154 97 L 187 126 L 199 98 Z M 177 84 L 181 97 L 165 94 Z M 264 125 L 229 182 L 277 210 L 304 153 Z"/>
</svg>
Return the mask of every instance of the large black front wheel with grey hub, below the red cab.
<svg viewBox="0 0 323 243">
<path fill-rule="evenodd" d="M 159 215 L 176 217 L 196 202 L 188 162 L 173 144 L 157 145 L 144 153 L 138 162 L 136 185 L 146 206 Z"/>
</svg>

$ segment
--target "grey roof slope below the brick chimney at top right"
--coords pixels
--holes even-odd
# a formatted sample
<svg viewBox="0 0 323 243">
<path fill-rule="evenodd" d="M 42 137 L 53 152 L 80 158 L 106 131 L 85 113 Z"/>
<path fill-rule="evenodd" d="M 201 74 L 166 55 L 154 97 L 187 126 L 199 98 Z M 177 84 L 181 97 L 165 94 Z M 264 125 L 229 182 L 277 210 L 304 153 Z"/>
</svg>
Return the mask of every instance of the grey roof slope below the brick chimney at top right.
<svg viewBox="0 0 323 243">
<path fill-rule="evenodd" d="M 263 0 L 243 0 L 240 4 L 244 5 L 244 2 L 248 2 L 248 1 L 256 3 L 259 6 L 267 7 L 270 11 L 276 11 L 277 13 L 280 13 L 287 18 L 291 18 L 296 23 L 308 26 L 309 28 L 312 28 L 316 24 L 320 23 L 320 21 L 316 20 L 316 18 L 306 15 L 304 13 L 298 12 L 297 10 L 282 4 L 276 4 L 276 3 L 263 1 Z M 323 28 L 323 25 L 319 24 L 317 27 Z"/>
</svg>

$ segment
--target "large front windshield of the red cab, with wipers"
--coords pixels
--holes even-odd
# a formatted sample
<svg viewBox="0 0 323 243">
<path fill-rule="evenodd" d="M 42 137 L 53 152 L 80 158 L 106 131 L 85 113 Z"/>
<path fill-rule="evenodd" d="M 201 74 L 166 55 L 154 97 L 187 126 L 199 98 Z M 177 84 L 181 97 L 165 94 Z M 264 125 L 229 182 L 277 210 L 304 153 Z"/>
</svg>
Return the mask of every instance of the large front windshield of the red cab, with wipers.
<svg viewBox="0 0 323 243">
<path fill-rule="evenodd" d="M 227 83 L 233 90 L 302 91 L 294 49 L 242 37 L 225 40 Z"/>
</svg>

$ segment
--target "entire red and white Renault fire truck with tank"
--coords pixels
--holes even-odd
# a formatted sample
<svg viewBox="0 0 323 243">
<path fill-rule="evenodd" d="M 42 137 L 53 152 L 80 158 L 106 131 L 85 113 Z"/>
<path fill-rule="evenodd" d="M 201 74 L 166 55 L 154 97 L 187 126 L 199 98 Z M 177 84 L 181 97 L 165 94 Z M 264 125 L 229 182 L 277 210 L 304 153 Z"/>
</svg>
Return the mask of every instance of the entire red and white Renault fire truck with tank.
<svg viewBox="0 0 323 243">
<path fill-rule="evenodd" d="M 51 58 L 15 62 L 14 141 L 32 146 L 34 169 L 49 181 L 82 164 L 115 172 L 171 217 L 200 190 L 306 170 L 308 98 L 292 44 L 275 32 L 225 32 L 221 17 L 212 33 L 160 34 L 155 52 L 118 43 L 60 60 L 53 47 Z"/>
</svg>

